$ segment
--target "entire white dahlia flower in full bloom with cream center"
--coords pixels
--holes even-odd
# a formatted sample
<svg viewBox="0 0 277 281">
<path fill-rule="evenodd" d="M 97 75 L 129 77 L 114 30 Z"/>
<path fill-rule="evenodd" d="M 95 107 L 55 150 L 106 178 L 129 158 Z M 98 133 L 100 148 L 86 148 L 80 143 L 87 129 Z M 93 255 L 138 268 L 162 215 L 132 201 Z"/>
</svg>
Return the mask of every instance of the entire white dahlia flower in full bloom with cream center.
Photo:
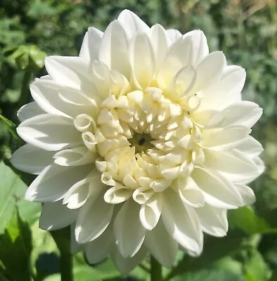
<svg viewBox="0 0 277 281">
<path fill-rule="evenodd" d="M 44 203 L 40 227 L 71 225 L 90 263 L 111 256 L 127 273 L 150 252 L 170 268 L 255 201 L 247 184 L 264 164 L 249 134 L 262 109 L 241 100 L 245 70 L 209 53 L 200 30 L 125 10 L 105 32 L 90 27 L 78 57 L 45 65 L 11 162 L 38 175 L 26 199 Z"/>
</svg>

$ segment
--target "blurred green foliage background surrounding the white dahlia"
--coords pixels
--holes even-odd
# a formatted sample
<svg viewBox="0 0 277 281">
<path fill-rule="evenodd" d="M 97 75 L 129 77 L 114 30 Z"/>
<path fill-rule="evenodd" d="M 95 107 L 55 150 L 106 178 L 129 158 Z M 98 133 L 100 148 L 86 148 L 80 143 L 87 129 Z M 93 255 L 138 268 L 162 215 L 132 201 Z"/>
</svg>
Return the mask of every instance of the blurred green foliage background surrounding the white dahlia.
<svg viewBox="0 0 277 281">
<path fill-rule="evenodd" d="M 264 108 L 253 129 L 255 138 L 264 145 L 266 163 L 265 174 L 252 184 L 257 195 L 255 212 L 249 208 L 230 212 L 228 236 L 207 239 L 198 259 L 180 258 L 181 266 L 175 269 L 181 275 L 174 280 L 277 280 L 276 0 L 1 0 L 0 157 L 6 164 L 0 164 L 0 280 L 28 280 L 23 275 L 18 279 L 9 270 L 11 265 L 3 258 L 4 248 L 8 248 L 3 243 L 11 249 L 8 254 L 17 257 L 15 262 L 24 259 L 28 263 L 25 273 L 29 270 L 34 280 L 60 280 L 58 248 L 51 235 L 37 225 L 40 206 L 22 200 L 25 183 L 32 178 L 20 174 L 24 183 L 7 166 L 11 152 L 22 145 L 16 138 L 16 112 L 32 100 L 28 84 L 45 74 L 46 55 L 77 55 L 87 27 L 104 30 L 124 8 L 149 25 L 159 22 L 183 33 L 203 30 L 211 51 L 223 50 L 228 63 L 245 67 L 243 98 Z M 15 226 L 22 231 L 17 233 Z M 27 251 L 22 253 L 22 247 Z M 82 254 L 77 254 L 74 264 L 76 280 L 119 280 L 110 261 L 87 267 Z M 169 274 L 165 270 L 165 276 Z M 129 280 L 146 280 L 141 268 L 131 276 Z"/>
</svg>

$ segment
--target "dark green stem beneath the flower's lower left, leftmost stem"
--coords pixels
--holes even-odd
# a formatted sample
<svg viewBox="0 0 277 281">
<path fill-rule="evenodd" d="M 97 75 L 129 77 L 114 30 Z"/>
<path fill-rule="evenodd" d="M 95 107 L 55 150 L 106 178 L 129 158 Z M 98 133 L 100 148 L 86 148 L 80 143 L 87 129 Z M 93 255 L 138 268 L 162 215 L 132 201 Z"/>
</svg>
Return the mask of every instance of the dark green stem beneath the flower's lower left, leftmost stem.
<svg viewBox="0 0 277 281">
<path fill-rule="evenodd" d="M 51 235 L 60 250 L 60 280 L 73 281 L 73 258 L 70 251 L 70 227 L 51 231 Z"/>
</svg>

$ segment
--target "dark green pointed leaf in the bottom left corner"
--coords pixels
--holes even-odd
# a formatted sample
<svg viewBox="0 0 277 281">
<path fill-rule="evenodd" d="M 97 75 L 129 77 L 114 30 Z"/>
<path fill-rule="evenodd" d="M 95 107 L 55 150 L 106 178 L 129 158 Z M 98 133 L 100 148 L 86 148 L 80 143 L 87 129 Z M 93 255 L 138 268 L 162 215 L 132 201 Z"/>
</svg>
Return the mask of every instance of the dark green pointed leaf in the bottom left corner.
<svg viewBox="0 0 277 281">
<path fill-rule="evenodd" d="M 18 207 L 13 211 L 5 233 L 0 235 L 0 249 L 0 260 L 11 280 L 31 280 L 32 234 L 28 224 L 20 218 Z"/>
</svg>

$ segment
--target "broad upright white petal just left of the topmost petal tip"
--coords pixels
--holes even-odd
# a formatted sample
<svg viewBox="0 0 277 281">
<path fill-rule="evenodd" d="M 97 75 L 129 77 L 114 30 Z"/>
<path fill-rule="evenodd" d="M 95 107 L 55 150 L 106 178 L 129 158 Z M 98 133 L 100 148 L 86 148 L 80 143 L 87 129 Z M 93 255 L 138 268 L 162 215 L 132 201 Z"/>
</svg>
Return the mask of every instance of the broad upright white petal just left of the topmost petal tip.
<svg viewBox="0 0 277 281">
<path fill-rule="evenodd" d="M 110 70 L 117 70 L 129 77 L 129 57 L 127 35 L 119 21 L 110 23 L 103 34 L 99 48 L 99 60 Z"/>
</svg>

